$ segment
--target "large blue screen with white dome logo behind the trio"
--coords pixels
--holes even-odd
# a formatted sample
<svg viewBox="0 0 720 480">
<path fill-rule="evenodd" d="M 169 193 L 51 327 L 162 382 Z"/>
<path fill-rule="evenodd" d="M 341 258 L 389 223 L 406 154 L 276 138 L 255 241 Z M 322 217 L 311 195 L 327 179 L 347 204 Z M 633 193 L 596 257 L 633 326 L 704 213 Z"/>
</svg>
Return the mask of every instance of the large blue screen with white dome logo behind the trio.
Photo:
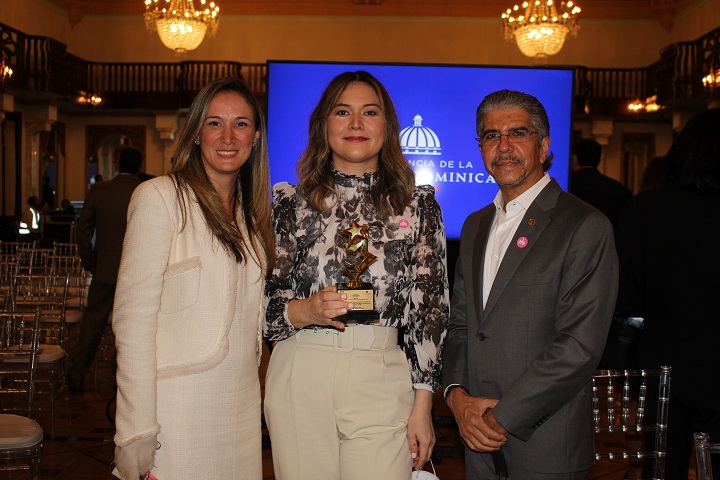
<svg viewBox="0 0 720 480">
<path fill-rule="evenodd" d="M 307 145 L 308 120 L 337 74 L 366 70 L 390 92 L 400 120 L 403 153 L 418 185 L 435 187 L 447 237 L 457 239 L 467 216 L 492 202 L 475 132 L 485 95 L 513 89 L 537 97 L 550 118 L 550 175 L 567 190 L 572 134 L 573 70 L 367 63 L 268 62 L 268 148 L 274 183 L 297 183 L 295 164 Z"/>
</svg>

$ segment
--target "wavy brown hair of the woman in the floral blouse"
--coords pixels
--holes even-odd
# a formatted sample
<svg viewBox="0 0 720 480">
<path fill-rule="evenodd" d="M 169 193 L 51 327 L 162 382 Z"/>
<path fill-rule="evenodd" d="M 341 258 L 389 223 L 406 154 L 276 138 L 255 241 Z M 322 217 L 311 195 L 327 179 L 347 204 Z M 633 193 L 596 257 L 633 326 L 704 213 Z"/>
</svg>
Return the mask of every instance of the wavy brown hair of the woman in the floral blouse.
<svg viewBox="0 0 720 480">
<path fill-rule="evenodd" d="M 378 79 L 362 70 L 341 73 L 333 78 L 310 115 L 308 146 L 297 165 L 298 191 L 314 210 L 322 213 L 330 210 L 325 202 L 327 198 L 337 201 L 327 124 L 332 109 L 352 83 L 364 83 L 372 88 L 380 99 L 380 109 L 385 116 L 385 140 L 380 149 L 378 180 L 370 192 L 373 204 L 380 213 L 400 215 L 412 197 L 415 174 L 402 154 L 400 123 L 390 95 Z"/>
</svg>

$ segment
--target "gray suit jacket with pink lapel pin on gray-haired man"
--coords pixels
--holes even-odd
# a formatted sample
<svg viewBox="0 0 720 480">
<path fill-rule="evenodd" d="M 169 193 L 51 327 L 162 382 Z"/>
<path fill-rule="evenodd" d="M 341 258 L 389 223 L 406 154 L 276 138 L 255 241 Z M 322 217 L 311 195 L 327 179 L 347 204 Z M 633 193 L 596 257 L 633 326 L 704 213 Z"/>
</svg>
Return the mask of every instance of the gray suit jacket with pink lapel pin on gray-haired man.
<svg viewBox="0 0 720 480">
<path fill-rule="evenodd" d="M 494 214 L 490 205 L 463 226 L 443 383 L 500 400 L 494 413 L 511 434 L 503 447 L 508 463 L 535 472 L 585 470 L 594 461 L 591 377 L 617 294 L 612 227 L 552 180 L 518 227 L 483 308 Z M 466 459 L 482 461 L 469 451 Z"/>
</svg>

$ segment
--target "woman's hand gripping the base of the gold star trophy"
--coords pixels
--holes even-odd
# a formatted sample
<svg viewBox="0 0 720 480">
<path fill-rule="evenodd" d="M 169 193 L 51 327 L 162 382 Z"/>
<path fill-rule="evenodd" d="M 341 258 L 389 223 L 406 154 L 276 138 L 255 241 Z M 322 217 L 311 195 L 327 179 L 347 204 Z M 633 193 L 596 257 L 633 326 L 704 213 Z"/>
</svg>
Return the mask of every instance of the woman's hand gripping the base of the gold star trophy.
<svg viewBox="0 0 720 480">
<path fill-rule="evenodd" d="M 343 331 L 345 324 L 333 319 L 352 309 L 353 304 L 346 302 L 346 298 L 347 295 L 338 293 L 335 287 L 325 287 L 309 298 L 291 300 L 288 304 L 288 319 L 297 329 L 319 325 Z"/>
</svg>

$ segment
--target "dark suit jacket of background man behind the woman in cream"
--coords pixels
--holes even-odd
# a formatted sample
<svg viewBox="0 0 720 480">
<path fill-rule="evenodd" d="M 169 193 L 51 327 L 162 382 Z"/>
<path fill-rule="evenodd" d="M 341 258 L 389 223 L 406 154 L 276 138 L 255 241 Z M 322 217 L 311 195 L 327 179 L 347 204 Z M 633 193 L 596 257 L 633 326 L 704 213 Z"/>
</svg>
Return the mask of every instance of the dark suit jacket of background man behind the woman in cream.
<svg viewBox="0 0 720 480">
<path fill-rule="evenodd" d="M 140 180 L 119 174 L 90 188 L 77 226 L 78 254 L 93 281 L 115 284 L 120 267 L 127 209 Z M 95 235 L 95 248 L 92 245 Z"/>
</svg>

